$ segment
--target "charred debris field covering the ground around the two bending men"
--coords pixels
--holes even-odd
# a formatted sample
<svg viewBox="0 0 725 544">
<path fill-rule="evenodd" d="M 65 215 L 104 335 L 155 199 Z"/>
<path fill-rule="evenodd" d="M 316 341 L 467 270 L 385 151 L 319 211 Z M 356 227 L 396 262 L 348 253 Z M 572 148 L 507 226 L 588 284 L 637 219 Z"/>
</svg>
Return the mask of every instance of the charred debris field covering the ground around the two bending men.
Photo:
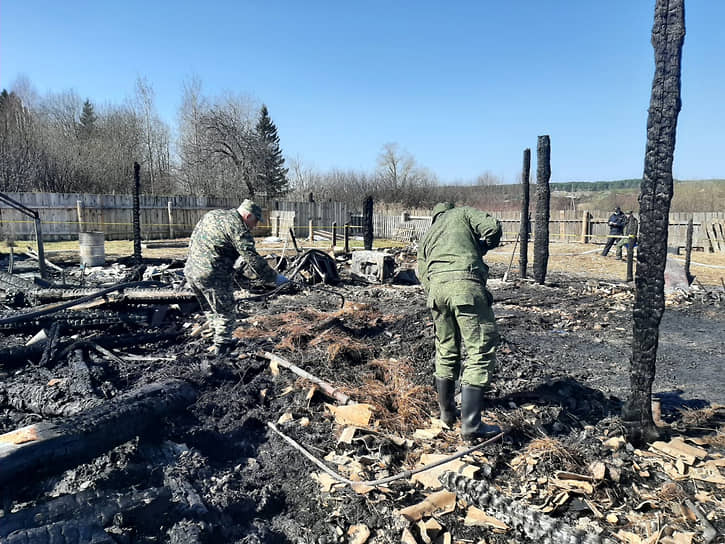
<svg viewBox="0 0 725 544">
<path fill-rule="evenodd" d="M 56 260 L 46 282 L 16 260 L 0 274 L 0 542 L 725 542 L 720 286 L 667 296 L 662 438 L 640 449 L 620 419 L 631 284 L 504 282 L 493 263 L 484 417 L 504 434 L 456 455 L 470 446 L 436 419 L 415 253 L 393 253 L 386 283 L 305 253 L 293 284 L 242 285 L 220 356 L 183 260 L 83 278 Z"/>
</svg>

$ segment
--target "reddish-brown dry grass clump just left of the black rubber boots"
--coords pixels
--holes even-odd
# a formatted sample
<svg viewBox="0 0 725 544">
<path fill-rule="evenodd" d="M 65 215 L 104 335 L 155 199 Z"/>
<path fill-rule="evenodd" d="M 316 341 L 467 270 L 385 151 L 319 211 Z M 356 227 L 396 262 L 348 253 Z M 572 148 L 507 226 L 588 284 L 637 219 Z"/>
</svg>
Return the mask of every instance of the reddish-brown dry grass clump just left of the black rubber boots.
<svg viewBox="0 0 725 544">
<path fill-rule="evenodd" d="M 435 401 L 433 388 L 415 384 L 413 368 L 404 361 L 375 359 L 368 365 L 364 385 L 351 393 L 374 407 L 380 426 L 403 434 L 426 426 L 428 407 Z"/>
</svg>

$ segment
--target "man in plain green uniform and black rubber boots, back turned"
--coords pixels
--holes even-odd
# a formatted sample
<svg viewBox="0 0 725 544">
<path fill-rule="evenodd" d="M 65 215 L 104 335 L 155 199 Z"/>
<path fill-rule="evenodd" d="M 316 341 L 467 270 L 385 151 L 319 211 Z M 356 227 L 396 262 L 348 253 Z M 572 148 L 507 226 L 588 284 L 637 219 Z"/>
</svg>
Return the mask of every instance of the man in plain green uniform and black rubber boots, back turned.
<svg viewBox="0 0 725 544">
<path fill-rule="evenodd" d="M 469 207 L 440 203 L 420 242 L 418 274 L 435 326 L 435 381 L 441 419 L 456 420 L 455 383 L 461 380 L 461 433 L 466 440 L 498 432 L 481 422 L 486 389 L 496 366 L 498 332 L 486 289 L 483 255 L 501 240 L 501 224 Z M 466 364 L 461 365 L 461 342 Z"/>
</svg>

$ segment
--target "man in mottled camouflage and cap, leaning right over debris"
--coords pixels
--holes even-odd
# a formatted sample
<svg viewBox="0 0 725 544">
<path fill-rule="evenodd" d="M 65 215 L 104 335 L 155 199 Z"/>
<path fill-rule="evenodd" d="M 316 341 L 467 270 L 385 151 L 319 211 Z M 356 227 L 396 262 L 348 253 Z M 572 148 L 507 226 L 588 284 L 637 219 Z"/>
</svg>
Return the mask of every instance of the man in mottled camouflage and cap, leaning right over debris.
<svg viewBox="0 0 725 544">
<path fill-rule="evenodd" d="M 214 329 L 217 353 L 229 351 L 234 329 L 234 263 L 265 283 L 281 285 L 277 274 L 256 251 L 252 229 L 262 219 L 262 208 L 247 199 L 236 210 L 212 210 L 201 218 L 189 241 L 184 275 L 196 293 L 207 321 Z"/>
</svg>

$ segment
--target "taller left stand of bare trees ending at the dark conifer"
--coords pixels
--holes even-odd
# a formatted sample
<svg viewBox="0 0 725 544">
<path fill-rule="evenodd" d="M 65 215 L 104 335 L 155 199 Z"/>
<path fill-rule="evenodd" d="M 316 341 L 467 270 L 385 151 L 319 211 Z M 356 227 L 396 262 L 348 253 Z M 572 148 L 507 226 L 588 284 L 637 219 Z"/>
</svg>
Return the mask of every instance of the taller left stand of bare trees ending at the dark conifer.
<svg viewBox="0 0 725 544">
<path fill-rule="evenodd" d="M 129 193 L 134 162 L 147 194 L 277 197 L 290 189 L 269 110 L 245 97 L 210 99 L 192 82 L 172 140 L 144 79 L 121 105 L 75 91 L 0 92 L 0 191 Z"/>
</svg>

